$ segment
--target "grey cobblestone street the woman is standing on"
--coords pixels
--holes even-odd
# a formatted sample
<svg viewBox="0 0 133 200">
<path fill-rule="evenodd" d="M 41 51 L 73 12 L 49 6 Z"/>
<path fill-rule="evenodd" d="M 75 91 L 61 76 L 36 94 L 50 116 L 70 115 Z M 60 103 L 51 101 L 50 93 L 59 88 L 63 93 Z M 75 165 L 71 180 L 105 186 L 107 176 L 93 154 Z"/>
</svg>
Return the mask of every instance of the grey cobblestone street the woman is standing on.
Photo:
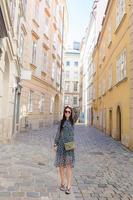
<svg viewBox="0 0 133 200">
<path fill-rule="evenodd" d="M 59 191 L 52 148 L 57 127 L 0 144 L 0 200 L 132 200 L 133 153 L 95 128 L 75 127 L 72 193 Z"/>
</svg>

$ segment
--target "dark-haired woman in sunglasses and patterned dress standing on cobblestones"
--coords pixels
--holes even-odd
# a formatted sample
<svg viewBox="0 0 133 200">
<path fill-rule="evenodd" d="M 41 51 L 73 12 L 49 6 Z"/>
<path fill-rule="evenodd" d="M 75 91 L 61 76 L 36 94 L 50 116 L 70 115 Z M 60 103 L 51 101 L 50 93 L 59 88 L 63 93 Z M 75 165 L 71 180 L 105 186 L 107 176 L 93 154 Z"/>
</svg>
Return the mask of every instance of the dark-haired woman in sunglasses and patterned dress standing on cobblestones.
<svg viewBox="0 0 133 200">
<path fill-rule="evenodd" d="M 65 191 L 66 194 L 70 194 L 72 184 L 72 168 L 74 167 L 75 157 L 74 148 L 66 150 L 65 143 L 74 143 L 74 121 L 72 118 L 72 108 L 66 106 L 64 108 L 63 118 L 59 124 L 58 131 L 54 140 L 54 148 L 56 150 L 56 159 L 54 165 L 59 167 L 60 172 L 60 190 Z M 65 172 L 67 187 L 65 188 Z"/>
</svg>

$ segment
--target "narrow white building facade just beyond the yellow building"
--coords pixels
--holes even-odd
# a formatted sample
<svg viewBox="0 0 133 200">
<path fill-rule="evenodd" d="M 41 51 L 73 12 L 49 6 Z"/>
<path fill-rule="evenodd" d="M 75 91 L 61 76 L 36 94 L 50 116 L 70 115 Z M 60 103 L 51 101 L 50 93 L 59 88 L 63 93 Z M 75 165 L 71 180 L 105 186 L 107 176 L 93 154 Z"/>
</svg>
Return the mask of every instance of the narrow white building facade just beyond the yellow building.
<svg viewBox="0 0 133 200">
<path fill-rule="evenodd" d="M 96 71 L 93 63 L 92 54 L 97 42 L 101 24 L 105 14 L 105 9 L 108 0 L 94 1 L 90 20 L 86 29 L 86 34 L 81 45 L 81 92 L 80 105 L 81 113 L 84 115 L 84 122 L 88 125 L 93 125 L 95 116 L 93 114 L 92 101 L 95 98 L 95 88 L 93 87 L 93 75 Z"/>
</svg>

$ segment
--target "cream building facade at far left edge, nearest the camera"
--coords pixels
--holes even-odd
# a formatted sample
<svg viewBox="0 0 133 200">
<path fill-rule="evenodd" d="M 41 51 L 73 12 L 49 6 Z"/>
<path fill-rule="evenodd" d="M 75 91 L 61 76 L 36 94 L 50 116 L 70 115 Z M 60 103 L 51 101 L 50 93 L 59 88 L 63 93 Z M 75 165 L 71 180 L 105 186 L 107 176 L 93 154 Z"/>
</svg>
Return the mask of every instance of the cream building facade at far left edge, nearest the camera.
<svg viewBox="0 0 133 200">
<path fill-rule="evenodd" d="M 19 2 L 0 1 L 0 140 L 15 135 L 20 97 L 20 66 L 17 58 Z"/>
</svg>

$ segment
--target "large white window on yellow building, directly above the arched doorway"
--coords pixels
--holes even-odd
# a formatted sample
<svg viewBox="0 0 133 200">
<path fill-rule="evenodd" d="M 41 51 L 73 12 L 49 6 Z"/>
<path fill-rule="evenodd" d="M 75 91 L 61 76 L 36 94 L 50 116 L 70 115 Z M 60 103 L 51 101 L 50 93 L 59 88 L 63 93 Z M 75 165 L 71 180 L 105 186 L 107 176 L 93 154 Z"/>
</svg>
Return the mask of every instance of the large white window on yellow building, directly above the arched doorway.
<svg viewBox="0 0 133 200">
<path fill-rule="evenodd" d="M 122 51 L 117 60 L 117 82 L 126 77 L 126 49 Z"/>
</svg>

